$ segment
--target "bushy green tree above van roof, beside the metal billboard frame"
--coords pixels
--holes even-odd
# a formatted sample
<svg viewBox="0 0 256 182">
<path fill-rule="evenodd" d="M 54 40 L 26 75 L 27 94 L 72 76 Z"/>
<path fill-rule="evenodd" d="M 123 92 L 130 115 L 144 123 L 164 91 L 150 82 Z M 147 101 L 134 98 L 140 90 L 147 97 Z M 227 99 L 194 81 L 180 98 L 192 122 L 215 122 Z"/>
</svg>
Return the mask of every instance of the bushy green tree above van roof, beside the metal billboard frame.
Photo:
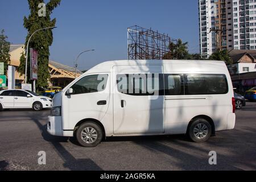
<svg viewBox="0 0 256 182">
<path fill-rule="evenodd" d="M 181 39 L 177 40 L 177 43 L 171 42 L 168 46 L 169 52 L 163 56 L 163 59 L 187 59 L 188 53 L 188 42 L 183 43 Z"/>
</svg>

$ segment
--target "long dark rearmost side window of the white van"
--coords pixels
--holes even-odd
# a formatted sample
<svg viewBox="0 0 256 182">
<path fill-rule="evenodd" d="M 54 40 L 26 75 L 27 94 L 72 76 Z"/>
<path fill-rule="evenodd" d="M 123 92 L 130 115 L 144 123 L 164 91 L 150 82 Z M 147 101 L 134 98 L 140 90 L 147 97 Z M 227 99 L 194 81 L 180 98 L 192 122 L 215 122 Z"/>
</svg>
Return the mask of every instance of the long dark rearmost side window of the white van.
<svg viewBox="0 0 256 182">
<path fill-rule="evenodd" d="M 185 75 L 185 94 L 226 94 L 228 82 L 225 75 L 188 74 Z"/>
</svg>

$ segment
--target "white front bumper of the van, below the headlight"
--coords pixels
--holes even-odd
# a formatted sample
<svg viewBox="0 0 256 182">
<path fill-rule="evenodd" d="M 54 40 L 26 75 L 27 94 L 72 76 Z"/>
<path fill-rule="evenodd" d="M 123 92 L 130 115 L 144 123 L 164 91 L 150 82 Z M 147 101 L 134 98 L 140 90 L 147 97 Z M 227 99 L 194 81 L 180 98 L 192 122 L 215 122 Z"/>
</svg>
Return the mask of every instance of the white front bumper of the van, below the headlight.
<svg viewBox="0 0 256 182">
<path fill-rule="evenodd" d="M 47 131 L 51 135 L 62 137 L 73 137 L 73 131 L 64 131 L 62 129 L 61 116 L 49 116 L 47 122 Z"/>
</svg>

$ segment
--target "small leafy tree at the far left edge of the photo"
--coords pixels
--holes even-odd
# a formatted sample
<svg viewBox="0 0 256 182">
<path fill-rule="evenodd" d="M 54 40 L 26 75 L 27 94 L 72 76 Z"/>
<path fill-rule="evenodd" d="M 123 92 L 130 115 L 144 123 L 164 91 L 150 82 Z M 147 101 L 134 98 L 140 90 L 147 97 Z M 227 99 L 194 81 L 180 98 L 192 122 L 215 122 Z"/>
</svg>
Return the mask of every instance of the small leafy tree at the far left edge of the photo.
<svg viewBox="0 0 256 182">
<path fill-rule="evenodd" d="M 5 31 L 2 30 L 0 34 L 0 62 L 3 62 L 4 74 L 6 75 L 8 64 L 10 63 L 10 42 L 7 41 L 8 37 L 4 33 Z"/>
</svg>

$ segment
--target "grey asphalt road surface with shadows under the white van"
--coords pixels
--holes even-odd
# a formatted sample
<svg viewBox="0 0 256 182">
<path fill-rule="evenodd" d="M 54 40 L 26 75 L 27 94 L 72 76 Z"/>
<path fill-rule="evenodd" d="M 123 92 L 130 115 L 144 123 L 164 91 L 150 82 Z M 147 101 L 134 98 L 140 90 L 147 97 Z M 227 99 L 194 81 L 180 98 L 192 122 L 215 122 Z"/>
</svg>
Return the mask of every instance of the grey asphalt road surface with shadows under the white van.
<svg viewBox="0 0 256 182">
<path fill-rule="evenodd" d="M 236 111 L 236 128 L 205 143 L 184 135 L 108 138 L 83 148 L 74 138 L 47 133 L 49 110 L 0 112 L 0 170 L 255 170 L 256 102 Z M 46 152 L 46 165 L 38 152 Z M 210 165 L 209 151 L 217 164 Z"/>
</svg>

